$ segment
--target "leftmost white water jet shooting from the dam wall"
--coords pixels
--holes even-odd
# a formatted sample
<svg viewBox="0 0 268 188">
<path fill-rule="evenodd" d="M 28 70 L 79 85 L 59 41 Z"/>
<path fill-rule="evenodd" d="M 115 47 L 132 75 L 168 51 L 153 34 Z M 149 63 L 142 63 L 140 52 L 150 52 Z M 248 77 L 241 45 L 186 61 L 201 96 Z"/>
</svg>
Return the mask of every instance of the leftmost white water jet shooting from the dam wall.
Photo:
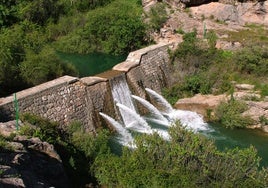
<svg viewBox="0 0 268 188">
<path fill-rule="evenodd" d="M 102 112 L 99 112 L 99 114 L 116 129 L 116 131 L 120 135 L 118 136 L 119 143 L 125 146 L 134 147 L 134 139 L 129 133 L 129 131 L 123 127 L 123 125 L 121 125 L 115 119 Z"/>
</svg>

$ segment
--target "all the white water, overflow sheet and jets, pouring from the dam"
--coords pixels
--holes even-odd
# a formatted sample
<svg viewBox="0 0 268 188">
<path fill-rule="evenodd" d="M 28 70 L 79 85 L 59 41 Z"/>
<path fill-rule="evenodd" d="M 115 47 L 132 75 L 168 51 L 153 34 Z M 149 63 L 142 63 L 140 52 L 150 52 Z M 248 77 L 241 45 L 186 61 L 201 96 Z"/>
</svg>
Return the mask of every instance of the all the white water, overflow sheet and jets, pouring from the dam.
<svg viewBox="0 0 268 188">
<path fill-rule="evenodd" d="M 167 127 L 176 120 L 180 120 L 183 125 L 193 130 L 206 130 L 206 124 L 203 122 L 202 117 L 197 113 L 174 110 L 163 96 L 149 88 L 146 88 L 146 92 L 150 95 L 151 101 L 154 101 L 160 110 L 149 101 L 131 95 L 125 74 L 121 74 L 111 79 L 110 85 L 116 110 L 119 111 L 123 122 L 121 124 L 101 112 L 100 115 L 117 130 L 120 135 L 118 139 L 122 145 L 135 147 L 133 144 L 134 139 L 129 130 L 146 134 L 156 132 L 159 136 L 168 140 L 170 135 L 168 134 Z M 142 117 L 138 114 L 132 98 L 148 109 L 150 117 Z M 168 117 L 168 119 L 165 116 Z M 151 128 L 152 122 L 158 125 L 157 128 Z"/>
</svg>

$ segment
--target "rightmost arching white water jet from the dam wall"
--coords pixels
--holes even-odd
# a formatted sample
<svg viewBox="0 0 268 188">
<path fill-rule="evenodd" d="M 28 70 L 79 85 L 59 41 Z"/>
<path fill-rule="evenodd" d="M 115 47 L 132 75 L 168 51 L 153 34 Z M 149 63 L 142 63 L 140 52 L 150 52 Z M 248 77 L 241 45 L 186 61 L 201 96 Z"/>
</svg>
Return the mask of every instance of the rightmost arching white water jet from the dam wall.
<svg viewBox="0 0 268 188">
<path fill-rule="evenodd" d="M 146 92 L 153 98 L 153 100 L 157 103 L 159 108 L 162 109 L 162 112 L 165 114 L 169 114 L 173 111 L 172 106 L 168 103 L 168 101 L 160 94 L 151 90 L 149 88 L 145 88 Z"/>
</svg>

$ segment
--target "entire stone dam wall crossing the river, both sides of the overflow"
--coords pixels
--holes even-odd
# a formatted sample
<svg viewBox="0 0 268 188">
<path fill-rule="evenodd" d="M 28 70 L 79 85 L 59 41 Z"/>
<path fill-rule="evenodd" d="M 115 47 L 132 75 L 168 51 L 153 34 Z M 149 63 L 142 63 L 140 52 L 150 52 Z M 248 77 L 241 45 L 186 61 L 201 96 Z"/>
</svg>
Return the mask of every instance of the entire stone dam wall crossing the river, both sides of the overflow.
<svg viewBox="0 0 268 188">
<path fill-rule="evenodd" d="M 146 98 L 145 88 L 161 92 L 170 84 L 168 50 L 172 46 L 156 44 L 131 52 L 124 62 L 95 76 L 63 76 L 17 92 L 19 112 L 57 121 L 63 129 L 80 121 L 88 132 L 95 132 L 105 123 L 99 112 L 117 116 L 111 87 L 119 80 L 125 79 L 131 92 L 142 98 Z M 0 98 L 0 122 L 13 119 L 14 96 Z"/>
</svg>

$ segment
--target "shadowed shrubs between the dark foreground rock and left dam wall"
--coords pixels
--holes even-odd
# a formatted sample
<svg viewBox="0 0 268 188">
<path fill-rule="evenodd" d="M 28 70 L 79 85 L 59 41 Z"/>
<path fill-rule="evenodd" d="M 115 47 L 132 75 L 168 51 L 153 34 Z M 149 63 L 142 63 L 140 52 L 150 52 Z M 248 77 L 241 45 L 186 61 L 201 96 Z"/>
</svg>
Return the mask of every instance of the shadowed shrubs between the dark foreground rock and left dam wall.
<svg viewBox="0 0 268 188">
<path fill-rule="evenodd" d="M 70 187 L 82 187 L 88 183 L 96 184 L 90 168 L 99 153 L 109 151 L 108 131 L 99 131 L 98 136 L 95 137 L 85 132 L 79 122 L 73 122 L 68 126 L 67 132 L 63 132 L 58 123 L 33 114 L 22 114 L 20 119 L 24 125 L 20 127 L 19 134 L 39 137 L 42 141 L 54 145 L 62 159 L 71 183 Z"/>
</svg>

